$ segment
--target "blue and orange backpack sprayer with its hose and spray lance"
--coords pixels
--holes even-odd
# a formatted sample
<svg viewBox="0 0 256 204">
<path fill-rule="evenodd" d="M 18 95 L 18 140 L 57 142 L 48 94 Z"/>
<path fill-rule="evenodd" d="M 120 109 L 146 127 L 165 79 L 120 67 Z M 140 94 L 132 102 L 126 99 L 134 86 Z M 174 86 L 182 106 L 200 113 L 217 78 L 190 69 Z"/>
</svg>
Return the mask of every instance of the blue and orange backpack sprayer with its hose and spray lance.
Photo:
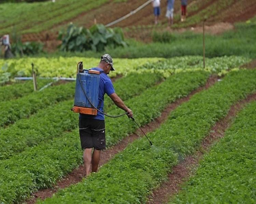
<svg viewBox="0 0 256 204">
<path fill-rule="evenodd" d="M 71 111 L 75 113 L 82 113 L 88 115 L 97 115 L 98 111 L 108 117 L 121 117 L 127 115 L 128 113 L 123 113 L 120 115 L 108 115 L 103 111 L 99 110 L 99 86 L 100 86 L 100 74 L 96 70 L 83 69 L 83 62 L 79 62 L 76 67 L 76 86 L 75 86 L 75 99 L 74 107 Z M 131 118 L 136 125 L 141 129 L 139 124 Z M 143 134 L 146 136 L 145 132 L 141 129 Z M 148 139 L 148 137 L 146 136 Z M 152 142 L 148 139 L 150 145 Z"/>
</svg>

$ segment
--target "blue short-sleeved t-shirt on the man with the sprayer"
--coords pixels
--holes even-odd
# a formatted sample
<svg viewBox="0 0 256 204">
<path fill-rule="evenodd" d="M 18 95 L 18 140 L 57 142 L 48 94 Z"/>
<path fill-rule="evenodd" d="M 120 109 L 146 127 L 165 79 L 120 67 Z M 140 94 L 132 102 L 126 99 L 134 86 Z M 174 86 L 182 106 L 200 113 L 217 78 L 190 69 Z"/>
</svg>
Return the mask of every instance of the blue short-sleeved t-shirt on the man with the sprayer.
<svg viewBox="0 0 256 204">
<path fill-rule="evenodd" d="M 103 71 L 102 69 L 95 67 L 91 68 L 91 70 L 97 70 L 97 71 Z M 99 105 L 100 107 L 98 108 L 103 112 L 103 107 L 104 107 L 104 95 L 108 94 L 111 95 L 115 93 L 113 84 L 111 79 L 106 75 L 105 73 L 100 74 L 100 87 L 99 87 Z M 87 114 L 80 114 L 79 117 L 83 118 L 90 118 L 90 119 L 97 119 L 97 120 L 104 120 L 104 115 L 101 112 L 97 112 L 97 115 L 87 115 Z"/>
</svg>

